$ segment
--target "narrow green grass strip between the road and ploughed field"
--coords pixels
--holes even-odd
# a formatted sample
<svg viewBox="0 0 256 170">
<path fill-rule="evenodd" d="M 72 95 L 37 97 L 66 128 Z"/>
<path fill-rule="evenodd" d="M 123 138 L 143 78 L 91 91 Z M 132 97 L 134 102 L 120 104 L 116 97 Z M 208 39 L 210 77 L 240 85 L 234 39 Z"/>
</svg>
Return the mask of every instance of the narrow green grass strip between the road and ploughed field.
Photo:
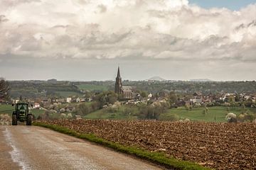
<svg viewBox="0 0 256 170">
<path fill-rule="evenodd" d="M 171 157 L 163 152 L 149 152 L 144 149 L 140 149 L 138 147 L 130 147 L 125 145 L 120 145 L 114 142 L 110 142 L 107 140 L 104 140 L 100 137 L 97 137 L 93 134 L 81 134 L 76 132 L 75 130 L 70 130 L 68 128 L 59 126 L 59 125 L 48 125 L 45 123 L 36 122 L 33 123 L 33 125 L 41 126 L 43 128 L 49 128 L 51 130 L 55 130 L 57 132 L 61 132 L 67 135 L 71 135 L 73 137 L 78 137 L 83 140 L 88 140 L 90 142 L 94 142 L 100 145 L 103 145 L 105 147 L 110 147 L 118 152 L 123 152 L 126 154 L 131 154 L 136 157 L 149 160 L 150 162 L 154 162 L 156 164 L 159 164 L 161 166 L 165 166 L 166 168 L 171 169 L 185 169 L 185 170 L 192 170 L 192 169 L 198 169 L 198 170 L 204 170 L 204 169 L 210 169 L 203 166 L 200 166 L 199 164 L 193 163 L 193 162 L 186 162 L 182 160 L 175 159 L 174 157 Z"/>
</svg>

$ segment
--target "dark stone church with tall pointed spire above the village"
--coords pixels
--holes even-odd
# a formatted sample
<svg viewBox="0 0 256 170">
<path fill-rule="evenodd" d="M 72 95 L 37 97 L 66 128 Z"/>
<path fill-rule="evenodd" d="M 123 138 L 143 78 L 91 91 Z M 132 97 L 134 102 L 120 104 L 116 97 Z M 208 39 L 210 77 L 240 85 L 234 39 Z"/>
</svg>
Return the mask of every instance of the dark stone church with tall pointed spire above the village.
<svg viewBox="0 0 256 170">
<path fill-rule="evenodd" d="M 120 76 L 120 69 L 117 70 L 117 78 L 114 86 L 114 93 L 121 96 L 122 99 L 134 99 L 137 93 L 132 90 L 131 86 L 122 86 L 122 78 Z"/>
</svg>

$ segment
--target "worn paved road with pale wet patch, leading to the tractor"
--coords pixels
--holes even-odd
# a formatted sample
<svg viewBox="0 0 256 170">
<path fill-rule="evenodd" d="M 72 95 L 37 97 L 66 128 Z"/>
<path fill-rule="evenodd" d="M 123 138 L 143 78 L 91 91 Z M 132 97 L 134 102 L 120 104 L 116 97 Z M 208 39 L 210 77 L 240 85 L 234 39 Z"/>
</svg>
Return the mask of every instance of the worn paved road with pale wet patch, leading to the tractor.
<svg viewBox="0 0 256 170">
<path fill-rule="evenodd" d="M 160 169 L 125 154 L 35 126 L 0 126 L 0 169 Z"/>
</svg>

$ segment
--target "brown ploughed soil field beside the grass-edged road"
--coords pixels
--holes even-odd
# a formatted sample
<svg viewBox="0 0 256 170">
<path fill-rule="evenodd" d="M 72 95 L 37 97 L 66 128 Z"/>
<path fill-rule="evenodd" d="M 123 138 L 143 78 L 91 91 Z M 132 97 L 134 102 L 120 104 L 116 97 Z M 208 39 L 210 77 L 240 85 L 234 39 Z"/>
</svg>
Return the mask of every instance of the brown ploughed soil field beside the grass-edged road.
<svg viewBox="0 0 256 170">
<path fill-rule="evenodd" d="M 128 120 L 50 120 L 123 145 L 166 152 L 214 169 L 256 169 L 256 125 Z"/>
</svg>

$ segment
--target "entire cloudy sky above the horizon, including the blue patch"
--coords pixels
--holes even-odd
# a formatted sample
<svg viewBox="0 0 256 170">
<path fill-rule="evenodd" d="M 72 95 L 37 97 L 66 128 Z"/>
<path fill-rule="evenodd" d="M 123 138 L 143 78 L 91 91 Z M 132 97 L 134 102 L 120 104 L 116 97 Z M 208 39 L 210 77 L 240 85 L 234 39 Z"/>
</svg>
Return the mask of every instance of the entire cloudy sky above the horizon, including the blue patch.
<svg viewBox="0 0 256 170">
<path fill-rule="evenodd" d="M 255 80 L 256 0 L 1 0 L 0 77 Z"/>
</svg>

